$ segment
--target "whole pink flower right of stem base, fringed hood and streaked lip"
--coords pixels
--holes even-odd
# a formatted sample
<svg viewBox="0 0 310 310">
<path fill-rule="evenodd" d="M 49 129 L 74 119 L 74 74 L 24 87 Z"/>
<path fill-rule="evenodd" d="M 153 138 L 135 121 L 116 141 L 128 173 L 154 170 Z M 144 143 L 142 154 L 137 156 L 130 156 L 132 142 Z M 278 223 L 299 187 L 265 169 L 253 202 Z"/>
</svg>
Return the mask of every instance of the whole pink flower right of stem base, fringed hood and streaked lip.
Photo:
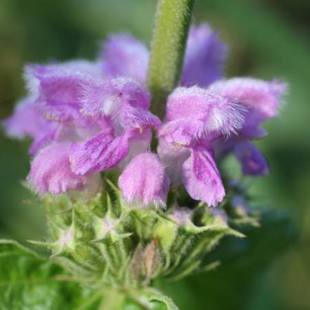
<svg viewBox="0 0 310 310">
<path fill-rule="evenodd" d="M 225 189 L 211 141 L 240 129 L 244 112 L 238 103 L 196 86 L 179 87 L 169 96 L 166 123 L 158 131 L 160 141 L 163 140 L 158 154 L 165 165 L 172 165 L 172 180 L 176 184 L 180 183 L 177 178 L 182 167 L 183 183 L 193 199 L 203 200 L 209 206 L 223 200 Z M 186 148 L 187 153 L 183 151 Z"/>
</svg>

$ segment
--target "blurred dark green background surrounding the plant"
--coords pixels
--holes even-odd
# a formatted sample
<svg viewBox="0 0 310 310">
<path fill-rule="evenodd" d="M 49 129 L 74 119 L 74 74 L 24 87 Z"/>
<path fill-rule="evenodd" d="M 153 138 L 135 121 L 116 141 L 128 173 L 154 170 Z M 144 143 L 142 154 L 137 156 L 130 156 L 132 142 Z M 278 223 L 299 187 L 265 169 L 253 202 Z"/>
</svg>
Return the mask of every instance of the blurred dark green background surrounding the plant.
<svg viewBox="0 0 310 310">
<path fill-rule="evenodd" d="M 25 63 L 93 59 L 108 33 L 123 30 L 149 44 L 155 7 L 155 0 L 1 0 L 0 118 L 25 92 Z M 310 309 L 310 2 L 196 0 L 194 21 L 209 21 L 229 45 L 227 76 L 277 76 L 289 83 L 281 117 L 266 124 L 269 136 L 258 143 L 271 174 L 249 183 L 256 203 L 292 211 L 298 238 L 247 294 L 236 291 L 245 299 L 238 309 Z M 43 215 L 21 185 L 27 147 L 0 132 L 0 237 L 44 234 Z M 227 300 L 223 309 L 234 308 Z"/>
</svg>

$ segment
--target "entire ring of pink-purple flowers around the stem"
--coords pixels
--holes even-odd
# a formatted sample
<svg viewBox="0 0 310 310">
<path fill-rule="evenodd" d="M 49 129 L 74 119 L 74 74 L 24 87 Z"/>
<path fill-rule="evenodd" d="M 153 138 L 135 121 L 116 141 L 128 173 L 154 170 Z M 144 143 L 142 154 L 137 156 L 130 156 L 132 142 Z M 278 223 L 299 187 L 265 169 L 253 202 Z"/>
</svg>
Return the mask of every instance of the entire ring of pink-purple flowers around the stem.
<svg viewBox="0 0 310 310">
<path fill-rule="evenodd" d="M 4 125 L 32 138 L 34 189 L 92 196 L 100 173 L 116 167 L 128 203 L 165 207 L 170 185 L 183 184 L 194 200 L 216 206 L 225 196 L 216 159 L 233 153 L 243 174 L 267 173 L 251 141 L 265 136 L 260 125 L 277 115 L 285 84 L 222 79 L 225 52 L 209 26 L 192 26 L 163 121 L 149 111 L 149 52 L 129 34 L 108 38 L 96 61 L 28 65 L 28 96 Z"/>
</svg>

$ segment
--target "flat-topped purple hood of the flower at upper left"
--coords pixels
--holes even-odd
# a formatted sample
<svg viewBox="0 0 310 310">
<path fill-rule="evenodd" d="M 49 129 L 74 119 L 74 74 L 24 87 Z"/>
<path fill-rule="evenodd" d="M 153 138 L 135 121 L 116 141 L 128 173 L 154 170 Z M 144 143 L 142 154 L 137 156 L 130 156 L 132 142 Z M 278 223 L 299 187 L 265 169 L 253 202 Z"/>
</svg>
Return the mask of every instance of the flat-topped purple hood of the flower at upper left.
<svg viewBox="0 0 310 310">
<path fill-rule="evenodd" d="M 87 120 L 79 113 L 79 94 L 83 85 L 99 79 L 95 63 L 70 61 L 61 64 L 29 65 L 25 68 L 25 77 L 37 92 L 37 103 L 46 118 L 65 123 Z M 36 84 L 34 79 L 37 79 Z M 37 90 L 34 86 L 37 85 Z"/>
</svg>

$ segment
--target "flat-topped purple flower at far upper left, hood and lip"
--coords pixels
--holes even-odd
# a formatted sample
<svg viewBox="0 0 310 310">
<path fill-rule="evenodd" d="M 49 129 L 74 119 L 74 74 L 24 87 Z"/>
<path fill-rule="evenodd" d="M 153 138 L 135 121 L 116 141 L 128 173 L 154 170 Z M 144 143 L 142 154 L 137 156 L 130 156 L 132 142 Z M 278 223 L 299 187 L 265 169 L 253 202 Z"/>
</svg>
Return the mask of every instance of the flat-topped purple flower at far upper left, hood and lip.
<svg viewBox="0 0 310 310">
<path fill-rule="evenodd" d="M 79 92 L 83 84 L 99 79 L 96 67 L 87 61 L 70 61 L 25 68 L 32 103 L 21 110 L 20 117 L 28 119 L 30 111 L 34 111 L 37 115 L 32 115 L 32 123 L 45 123 L 38 126 L 37 134 L 32 134 L 31 154 L 52 141 L 79 141 L 98 132 L 99 124 L 79 112 Z M 14 121 L 17 116 L 16 112 L 12 124 L 18 123 Z"/>
</svg>

